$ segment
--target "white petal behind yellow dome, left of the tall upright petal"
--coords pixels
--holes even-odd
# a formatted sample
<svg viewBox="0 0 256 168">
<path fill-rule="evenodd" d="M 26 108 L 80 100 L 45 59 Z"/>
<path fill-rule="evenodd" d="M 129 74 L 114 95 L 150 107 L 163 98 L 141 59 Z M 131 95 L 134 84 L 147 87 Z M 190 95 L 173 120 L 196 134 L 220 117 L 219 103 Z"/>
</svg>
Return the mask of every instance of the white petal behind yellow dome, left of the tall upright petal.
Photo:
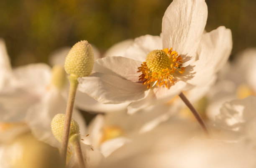
<svg viewBox="0 0 256 168">
<path fill-rule="evenodd" d="M 146 61 L 147 54 L 156 49 L 163 49 L 160 36 L 141 36 L 134 39 L 134 43 L 126 50 L 124 56 L 143 62 Z"/>
</svg>

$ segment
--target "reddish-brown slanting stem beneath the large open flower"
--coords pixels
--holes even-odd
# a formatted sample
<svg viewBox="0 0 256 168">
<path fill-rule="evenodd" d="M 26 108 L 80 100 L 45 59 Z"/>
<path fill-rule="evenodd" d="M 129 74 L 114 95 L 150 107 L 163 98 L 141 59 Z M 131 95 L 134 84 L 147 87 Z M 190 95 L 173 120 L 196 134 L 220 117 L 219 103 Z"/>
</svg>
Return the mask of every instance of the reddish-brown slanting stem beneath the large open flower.
<svg viewBox="0 0 256 168">
<path fill-rule="evenodd" d="M 187 97 L 182 92 L 179 94 L 179 97 L 182 99 L 182 101 L 187 105 L 187 107 L 190 109 L 192 114 L 195 116 L 195 118 L 197 119 L 197 122 L 200 124 L 200 126 L 201 126 L 202 130 L 204 131 L 206 137 L 210 138 L 209 131 L 207 130 L 204 121 L 202 120 L 202 118 L 198 114 L 195 107 L 193 107 L 193 105 L 189 102 Z"/>
</svg>

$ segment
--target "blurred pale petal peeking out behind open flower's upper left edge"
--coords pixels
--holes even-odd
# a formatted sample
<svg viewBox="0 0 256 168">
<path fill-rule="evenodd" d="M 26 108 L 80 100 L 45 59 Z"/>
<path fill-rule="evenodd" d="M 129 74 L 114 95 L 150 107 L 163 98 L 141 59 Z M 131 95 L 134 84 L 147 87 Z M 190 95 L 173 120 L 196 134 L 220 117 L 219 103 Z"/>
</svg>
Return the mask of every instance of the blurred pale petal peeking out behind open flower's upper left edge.
<svg viewBox="0 0 256 168">
<path fill-rule="evenodd" d="M 132 43 L 133 43 L 133 39 L 127 39 L 119 43 L 116 43 L 105 52 L 103 57 L 124 56 L 125 51 L 127 50 L 127 48 L 129 48 L 129 46 L 131 46 Z"/>
</svg>

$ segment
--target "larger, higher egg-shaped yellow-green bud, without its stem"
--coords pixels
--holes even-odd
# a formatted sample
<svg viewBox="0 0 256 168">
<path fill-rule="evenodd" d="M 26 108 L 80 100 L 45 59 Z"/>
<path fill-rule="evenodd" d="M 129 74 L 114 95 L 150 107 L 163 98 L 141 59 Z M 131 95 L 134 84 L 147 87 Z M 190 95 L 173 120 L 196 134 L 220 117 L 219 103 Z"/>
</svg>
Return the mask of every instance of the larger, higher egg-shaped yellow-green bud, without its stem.
<svg viewBox="0 0 256 168">
<path fill-rule="evenodd" d="M 94 65 L 94 53 L 88 41 L 76 43 L 65 59 L 65 71 L 77 77 L 88 76 Z"/>
</svg>

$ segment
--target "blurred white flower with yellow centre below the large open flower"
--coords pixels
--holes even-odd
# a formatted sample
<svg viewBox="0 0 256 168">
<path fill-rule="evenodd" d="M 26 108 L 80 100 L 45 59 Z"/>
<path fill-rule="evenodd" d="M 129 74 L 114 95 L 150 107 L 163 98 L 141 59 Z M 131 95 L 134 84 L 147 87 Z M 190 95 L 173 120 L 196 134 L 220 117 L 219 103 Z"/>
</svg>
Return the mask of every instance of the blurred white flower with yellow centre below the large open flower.
<svg viewBox="0 0 256 168">
<path fill-rule="evenodd" d="M 156 113 L 159 110 L 159 113 Z M 154 106 L 141 110 L 135 115 L 128 115 L 126 110 L 97 115 L 88 125 L 89 136 L 84 143 L 92 144 L 108 157 L 131 138 L 151 131 L 159 123 L 169 119 L 169 106 Z"/>
</svg>

